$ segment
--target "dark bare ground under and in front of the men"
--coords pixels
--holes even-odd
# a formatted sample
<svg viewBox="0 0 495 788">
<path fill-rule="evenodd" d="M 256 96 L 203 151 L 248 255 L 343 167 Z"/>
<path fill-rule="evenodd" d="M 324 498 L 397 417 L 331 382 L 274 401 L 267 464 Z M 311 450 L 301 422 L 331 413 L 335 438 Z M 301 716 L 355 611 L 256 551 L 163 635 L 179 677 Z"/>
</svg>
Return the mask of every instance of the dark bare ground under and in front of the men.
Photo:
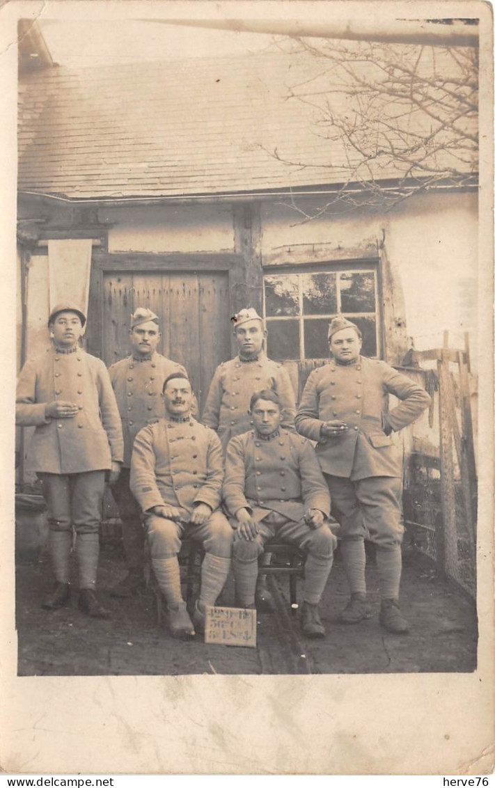
<svg viewBox="0 0 495 788">
<path fill-rule="evenodd" d="M 327 628 L 322 640 L 307 640 L 288 604 L 288 583 L 270 578 L 274 613 L 259 614 L 257 648 L 182 642 L 158 625 L 151 594 L 131 600 L 106 593 L 125 574 L 116 550 L 103 549 L 99 594 L 112 611 L 108 621 L 89 619 L 76 607 L 43 611 L 39 601 L 50 585 L 46 556 L 17 565 L 19 675 L 182 675 L 409 673 L 473 671 L 477 630 L 474 607 L 439 578 L 430 563 L 406 552 L 401 607 L 411 633 L 387 634 L 378 625 L 378 582 L 367 568 L 374 617 L 358 625 L 337 623 L 347 600 L 344 571 L 336 562 L 322 601 Z M 301 588 L 299 587 L 299 592 Z M 76 597 L 76 594 L 73 595 Z M 221 604 L 233 605 L 233 583 Z"/>
</svg>

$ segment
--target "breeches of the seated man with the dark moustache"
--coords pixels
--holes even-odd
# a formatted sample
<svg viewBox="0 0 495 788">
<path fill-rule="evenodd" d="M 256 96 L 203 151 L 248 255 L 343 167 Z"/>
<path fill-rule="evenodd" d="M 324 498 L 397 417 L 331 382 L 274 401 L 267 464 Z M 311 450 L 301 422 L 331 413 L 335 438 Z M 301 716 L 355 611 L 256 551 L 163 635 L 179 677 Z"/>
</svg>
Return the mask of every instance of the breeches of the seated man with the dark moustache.
<svg viewBox="0 0 495 788">
<path fill-rule="evenodd" d="M 147 515 L 144 520 L 151 558 L 169 558 L 181 550 L 181 540 L 188 537 L 203 545 L 205 552 L 230 558 L 233 530 L 221 511 L 214 511 L 202 526 L 174 522 L 165 517 Z"/>
</svg>

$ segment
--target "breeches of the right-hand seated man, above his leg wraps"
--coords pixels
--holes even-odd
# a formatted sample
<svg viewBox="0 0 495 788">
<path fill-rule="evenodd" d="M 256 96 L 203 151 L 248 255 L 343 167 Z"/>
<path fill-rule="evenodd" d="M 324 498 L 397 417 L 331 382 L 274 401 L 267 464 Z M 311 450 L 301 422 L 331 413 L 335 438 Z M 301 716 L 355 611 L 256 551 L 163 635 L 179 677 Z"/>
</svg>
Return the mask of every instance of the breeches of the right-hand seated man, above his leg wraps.
<svg viewBox="0 0 495 788">
<path fill-rule="evenodd" d="M 277 511 L 270 511 L 270 515 L 259 522 L 259 532 L 252 541 L 234 541 L 234 558 L 240 561 L 255 561 L 261 556 L 266 542 L 274 537 L 277 541 L 287 542 L 322 559 L 331 559 L 337 546 L 337 537 L 333 536 L 329 526 L 310 528 L 304 520 L 295 522 L 279 515 Z"/>
</svg>

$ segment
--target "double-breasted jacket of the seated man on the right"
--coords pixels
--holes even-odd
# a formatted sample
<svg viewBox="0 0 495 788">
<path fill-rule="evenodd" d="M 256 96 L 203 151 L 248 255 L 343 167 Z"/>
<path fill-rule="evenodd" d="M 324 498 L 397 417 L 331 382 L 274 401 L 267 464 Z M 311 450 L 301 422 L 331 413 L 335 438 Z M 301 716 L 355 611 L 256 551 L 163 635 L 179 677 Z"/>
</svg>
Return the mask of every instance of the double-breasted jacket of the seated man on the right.
<svg viewBox="0 0 495 788">
<path fill-rule="evenodd" d="M 287 429 L 268 439 L 251 430 L 229 441 L 223 496 L 232 515 L 247 508 L 256 521 L 270 511 L 296 522 L 310 509 L 329 515 L 329 492 L 314 448 Z"/>
</svg>

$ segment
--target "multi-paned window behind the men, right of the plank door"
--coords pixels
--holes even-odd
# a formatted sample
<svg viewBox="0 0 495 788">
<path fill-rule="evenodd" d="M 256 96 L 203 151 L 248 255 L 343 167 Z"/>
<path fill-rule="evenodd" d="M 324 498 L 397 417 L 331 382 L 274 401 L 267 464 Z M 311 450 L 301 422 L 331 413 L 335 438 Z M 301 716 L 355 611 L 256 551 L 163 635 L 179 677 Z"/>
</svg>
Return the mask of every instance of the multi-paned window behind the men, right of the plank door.
<svg viewBox="0 0 495 788">
<path fill-rule="evenodd" d="M 328 266 L 328 264 L 327 264 Z M 372 266 L 266 274 L 263 310 L 268 354 L 285 359 L 326 359 L 328 325 L 337 312 L 359 326 L 363 355 L 378 355 L 377 273 Z"/>
</svg>

